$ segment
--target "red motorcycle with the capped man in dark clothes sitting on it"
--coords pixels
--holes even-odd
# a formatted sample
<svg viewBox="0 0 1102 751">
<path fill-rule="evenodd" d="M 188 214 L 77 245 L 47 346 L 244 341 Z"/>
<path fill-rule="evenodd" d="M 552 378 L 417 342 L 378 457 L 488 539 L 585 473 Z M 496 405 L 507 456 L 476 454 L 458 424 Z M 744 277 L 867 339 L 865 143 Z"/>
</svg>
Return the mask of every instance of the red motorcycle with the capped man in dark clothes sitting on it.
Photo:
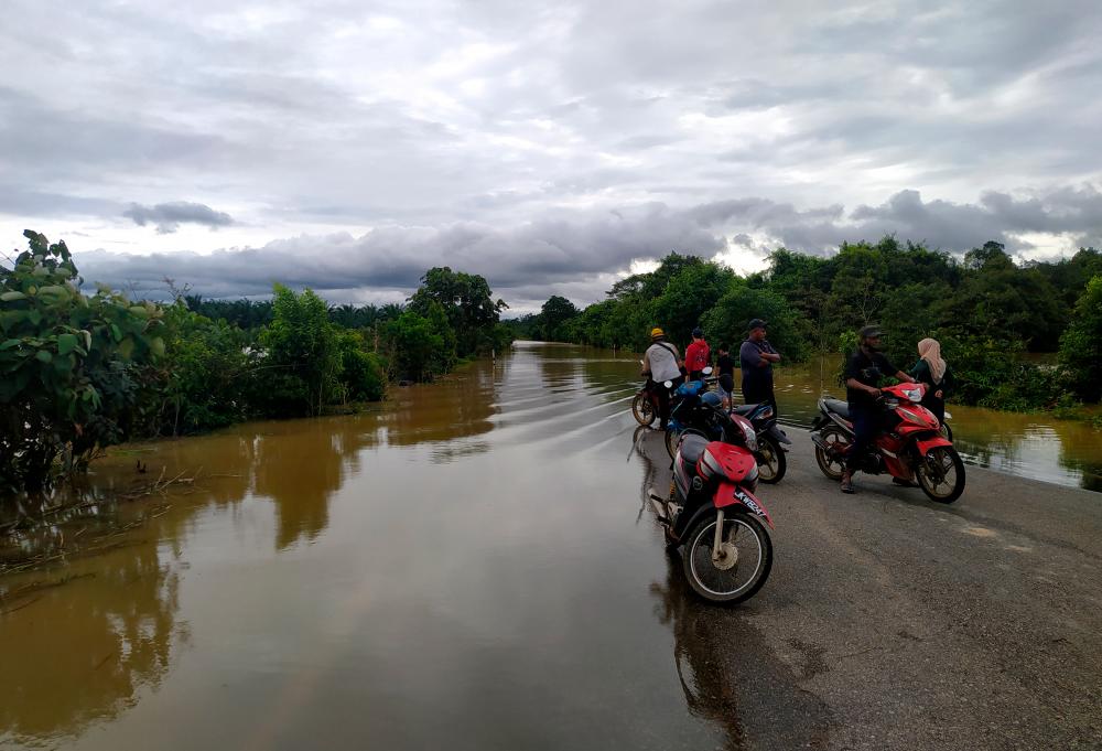
<svg viewBox="0 0 1102 751">
<path fill-rule="evenodd" d="M 964 462 L 941 432 L 938 418 L 918 404 L 925 393 L 923 384 L 880 389 L 877 403 L 894 425 L 877 434 L 873 449 L 861 457 L 858 469 L 866 474 L 887 472 L 905 482 L 917 479 L 930 500 L 952 503 L 964 492 Z M 841 480 L 854 440 L 850 406 L 823 397 L 819 412 L 811 425 L 815 461 L 828 478 Z"/>
</svg>

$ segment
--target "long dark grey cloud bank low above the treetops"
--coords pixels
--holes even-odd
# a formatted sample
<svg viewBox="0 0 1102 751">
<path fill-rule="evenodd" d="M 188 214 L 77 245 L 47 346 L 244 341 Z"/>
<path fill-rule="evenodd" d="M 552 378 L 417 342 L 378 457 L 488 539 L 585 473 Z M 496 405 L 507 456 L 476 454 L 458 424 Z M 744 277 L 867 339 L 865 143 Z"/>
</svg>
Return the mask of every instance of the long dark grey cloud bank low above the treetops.
<svg viewBox="0 0 1102 751">
<path fill-rule="evenodd" d="M 711 257 L 742 249 L 761 257 L 785 246 L 828 254 L 842 242 L 875 242 L 889 234 L 954 253 L 987 240 L 1023 250 L 1029 244 L 1018 235 L 1028 233 L 1065 235 L 1069 247 L 1102 246 L 1102 193 L 1089 185 L 1029 199 L 988 192 L 979 203 L 957 204 L 900 191 L 879 205 L 849 213 L 840 205 L 797 211 L 766 199 L 684 211 L 647 204 L 612 213 L 563 214 L 510 229 L 475 223 L 390 226 L 359 237 L 300 236 L 209 255 L 95 250 L 80 254 L 78 261 L 89 281 L 153 293 L 163 291 L 164 277 L 207 297 L 266 294 L 279 281 L 334 292 L 334 301 L 344 301 L 411 291 L 429 268 L 450 266 L 485 276 L 507 301 L 570 292 L 579 302 L 592 302 L 633 261 L 671 250 Z"/>
</svg>

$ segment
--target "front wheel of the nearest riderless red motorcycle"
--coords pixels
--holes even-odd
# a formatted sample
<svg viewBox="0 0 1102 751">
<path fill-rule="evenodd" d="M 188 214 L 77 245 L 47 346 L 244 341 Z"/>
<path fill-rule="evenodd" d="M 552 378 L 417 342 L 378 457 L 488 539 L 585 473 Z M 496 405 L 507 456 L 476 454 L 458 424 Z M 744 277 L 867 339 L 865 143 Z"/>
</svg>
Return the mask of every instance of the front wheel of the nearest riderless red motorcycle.
<svg viewBox="0 0 1102 751">
<path fill-rule="evenodd" d="M 716 515 L 701 519 L 689 533 L 681 556 L 685 579 L 709 602 L 735 604 L 753 597 L 773 569 L 773 541 L 756 516 L 724 515 L 721 555 L 713 560 Z"/>
</svg>

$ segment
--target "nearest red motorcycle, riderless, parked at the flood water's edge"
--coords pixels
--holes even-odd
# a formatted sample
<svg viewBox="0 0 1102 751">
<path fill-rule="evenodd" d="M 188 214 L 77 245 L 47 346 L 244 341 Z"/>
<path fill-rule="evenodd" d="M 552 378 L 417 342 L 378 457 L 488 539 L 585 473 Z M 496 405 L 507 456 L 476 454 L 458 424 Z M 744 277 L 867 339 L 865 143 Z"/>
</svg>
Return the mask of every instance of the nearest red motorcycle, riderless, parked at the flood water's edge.
<svg viewBox="0 0 1102 751">
<path fill-rule="evenodd" d="M 753 597 L 773 568 L 769 513 L 754 496 L 757 436 L 733 416 L 738 444 L 682 436 L 668 497 L 648 491 L 670 549 L 683 547 L 685 579 L 700 597 L 734 604 Z M 765 522 L 765 524 L 763 524 Z"/>
</svg>

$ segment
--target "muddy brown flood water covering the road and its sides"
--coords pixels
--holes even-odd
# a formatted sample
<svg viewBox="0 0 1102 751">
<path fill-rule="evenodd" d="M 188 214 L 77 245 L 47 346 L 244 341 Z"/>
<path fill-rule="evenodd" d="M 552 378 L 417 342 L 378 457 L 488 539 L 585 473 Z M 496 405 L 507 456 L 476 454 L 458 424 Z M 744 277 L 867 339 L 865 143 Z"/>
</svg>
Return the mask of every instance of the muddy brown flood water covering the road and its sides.
<svg viewBox="0 0 1102 751">
<path fill-rule="evenodd" d="M 662 554 L 636 371 L 521 343 L 355 417 L 115 452 L 107 524 L 0 578 L 0 748 L 739 748 L 771 668 Z M 1093 431 L 952 411 L 975 460 L 1098 487 Z M 139 462 L 196 479 L 117 503 Z"/>
</svg>

